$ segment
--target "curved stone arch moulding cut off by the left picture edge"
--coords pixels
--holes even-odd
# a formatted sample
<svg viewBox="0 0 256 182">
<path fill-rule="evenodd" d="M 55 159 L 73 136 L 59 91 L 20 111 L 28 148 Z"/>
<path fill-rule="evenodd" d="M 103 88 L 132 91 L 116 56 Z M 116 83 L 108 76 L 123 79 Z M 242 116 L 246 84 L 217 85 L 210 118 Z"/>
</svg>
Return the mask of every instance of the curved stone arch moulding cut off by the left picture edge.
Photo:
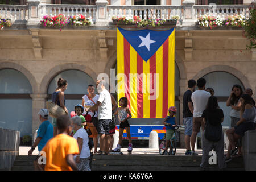
<svg viewBox="0 0 256 182">
<path fill-rule="evenodd" d="M 36 82 L 35 77 L 32 75 L 28 69 L 24 68 L 20 64 L 12 63 L 12 62 L 1 62 L 0 69 L 16 69 L 17 71 L 21 72 L 24 76 L 27 77 L 30 85 L 32 87 L 32 94 L 38 94 L 38 83 Z"/>
</svg>

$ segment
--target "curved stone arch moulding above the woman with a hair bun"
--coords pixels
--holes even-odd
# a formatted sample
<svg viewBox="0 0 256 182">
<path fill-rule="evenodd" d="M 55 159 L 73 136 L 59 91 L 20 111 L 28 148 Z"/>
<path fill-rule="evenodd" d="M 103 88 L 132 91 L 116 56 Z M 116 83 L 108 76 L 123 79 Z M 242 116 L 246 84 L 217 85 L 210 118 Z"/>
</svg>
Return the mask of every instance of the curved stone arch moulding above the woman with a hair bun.
<svg viewBox="0 0 256 182">
<path fill-rule="evenodd" d="M 92 77 L 92 79 L 95 82 L 97 81 L 96 73 L 92 69 L 86 67 L 83 64 L 75 64 L 75 63 L 61 64 L 61 65 L 57 65 L 56 67 L 52 68 L 50 71 L 46 73 L 46 75 L 43 77 L 42 82 L 40 84 L 40 92 L 42 92 L 42 94 L 47 93 L 48 85 L 52 81 L 52 79 L 59 73 L 63 71 L 67 71 L 69 69 L 77 69 L 79 71 L 85 72 L 90 77 Z"/>
</svg>

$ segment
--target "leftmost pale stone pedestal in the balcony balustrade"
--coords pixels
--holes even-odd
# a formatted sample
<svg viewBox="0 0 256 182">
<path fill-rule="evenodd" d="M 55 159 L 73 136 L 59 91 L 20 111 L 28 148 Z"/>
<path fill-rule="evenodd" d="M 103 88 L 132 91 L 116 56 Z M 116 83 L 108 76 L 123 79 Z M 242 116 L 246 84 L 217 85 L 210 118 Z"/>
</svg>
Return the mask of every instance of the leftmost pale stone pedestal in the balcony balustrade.
<svg viewBox="0 0 256 182">
<path fill-rule="evenodd" d="M 40 0 L 28 0 L 28 24 L 40 23 Z"/>
</svg>

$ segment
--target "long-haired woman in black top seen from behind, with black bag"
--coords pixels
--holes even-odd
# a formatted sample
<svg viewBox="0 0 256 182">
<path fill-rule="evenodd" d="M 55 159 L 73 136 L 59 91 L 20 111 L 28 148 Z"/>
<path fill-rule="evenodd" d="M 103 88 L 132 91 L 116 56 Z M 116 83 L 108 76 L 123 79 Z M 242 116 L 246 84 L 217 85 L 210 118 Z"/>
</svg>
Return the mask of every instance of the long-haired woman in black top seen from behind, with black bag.
<svg viewBox="0 0 256 182">
<path fill-rule="evenodd" d="M 224 160 L 224 134 L 221 126 L 224 121 L 224 114 L 218 106 L 217 97 L 209 97 L 202 117 L 205 123 L 205 130 L 202 135 L 203 156 L 200 167 L 205 169 L 208 166 L 209 152 L 214 150 L 218 157 L 218 168 L 224 169 L 226 167 Z M 214 162 L 214 160 L 210 161 Z"/>
</svg>

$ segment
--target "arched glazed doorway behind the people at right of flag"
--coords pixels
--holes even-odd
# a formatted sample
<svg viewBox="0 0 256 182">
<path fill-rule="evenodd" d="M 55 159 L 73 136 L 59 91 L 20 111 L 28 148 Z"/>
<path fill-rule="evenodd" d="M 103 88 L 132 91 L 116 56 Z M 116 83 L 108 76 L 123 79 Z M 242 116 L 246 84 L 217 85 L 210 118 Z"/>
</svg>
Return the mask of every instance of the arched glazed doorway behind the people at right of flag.
<svg viewBox="0 0 256 182">
<path fill-rule="evenodd" d="M 208 73 L 203 76 L 203 78 L 207 80 L 205 88 L 211 87 L 214 89 L 214 96 L 218 98 L 218 104 L 224 112 L 224 122 L 222 123 L 222 126 L 230 126 L 229 113 L 231 107 L 226 106 L 226 101 L 228 100 L 234 84 L 241 85 L 242 89 L 245 90 L 242 82 L 234 75 L 222 71 Z"/>
</svg>

